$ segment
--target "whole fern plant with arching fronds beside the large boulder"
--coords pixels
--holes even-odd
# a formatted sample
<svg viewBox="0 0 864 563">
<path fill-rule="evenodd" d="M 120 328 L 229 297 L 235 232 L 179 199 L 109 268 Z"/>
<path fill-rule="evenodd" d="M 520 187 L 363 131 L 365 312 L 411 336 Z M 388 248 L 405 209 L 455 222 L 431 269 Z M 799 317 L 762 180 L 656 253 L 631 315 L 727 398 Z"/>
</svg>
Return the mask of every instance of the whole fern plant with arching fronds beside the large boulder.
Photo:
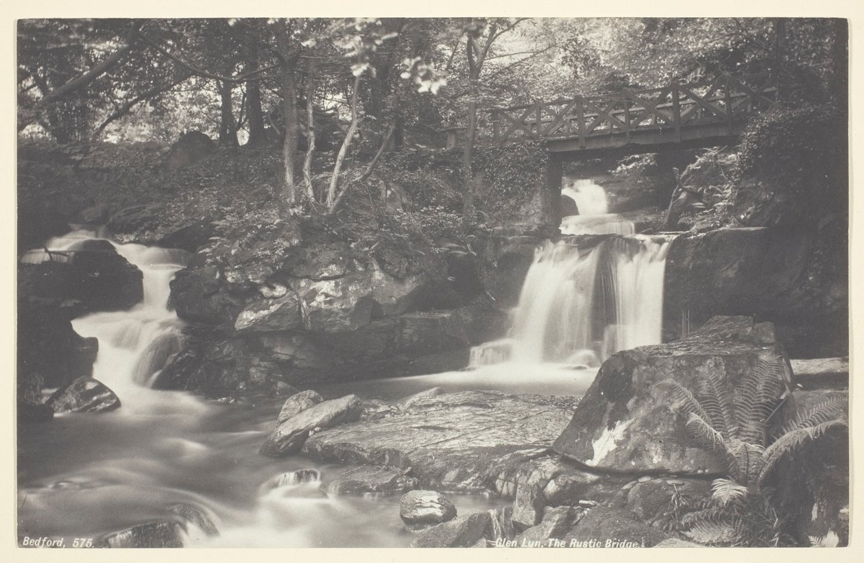
<svg viewBox="0 0 864 563">
<path fill-rule="evenodd" d="M 777 546 L 791 541 L 766 484 L 780 459 L 847 422 L 845 402 L 835 398 L 799 415 L 768 446 L 768 422 L 786 396 L 783 369 L 781 358 L 760 361 L 733 388 L 721 370 L 712 367 L 700 378 L 696 393 L 671 378 L 664 380 L 677 396 L 671 408 L 686 417 L 688 433 L 727 465 L 727 478 L 715 479 L 709 500 L 694 503 L 673 497 L 667 528 L 712 545 Z"/>
</svg>

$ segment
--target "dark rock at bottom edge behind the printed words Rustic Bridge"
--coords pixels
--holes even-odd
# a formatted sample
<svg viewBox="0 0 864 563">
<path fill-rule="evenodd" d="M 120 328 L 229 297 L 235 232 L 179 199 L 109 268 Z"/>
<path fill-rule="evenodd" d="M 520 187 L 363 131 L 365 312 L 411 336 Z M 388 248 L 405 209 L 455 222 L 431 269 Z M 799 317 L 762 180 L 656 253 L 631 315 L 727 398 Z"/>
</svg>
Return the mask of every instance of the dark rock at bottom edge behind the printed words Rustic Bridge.
<svg viewBox="0 0 864 563">
<path fill-rule="evenodd" d="M 632 512 L 596 506 L 581 517 L 564 541 L 576 546 L 594 540 L 596 547 L 653 547 L 668 537 L 658 528 L 639 522 Z"/>
</svg>

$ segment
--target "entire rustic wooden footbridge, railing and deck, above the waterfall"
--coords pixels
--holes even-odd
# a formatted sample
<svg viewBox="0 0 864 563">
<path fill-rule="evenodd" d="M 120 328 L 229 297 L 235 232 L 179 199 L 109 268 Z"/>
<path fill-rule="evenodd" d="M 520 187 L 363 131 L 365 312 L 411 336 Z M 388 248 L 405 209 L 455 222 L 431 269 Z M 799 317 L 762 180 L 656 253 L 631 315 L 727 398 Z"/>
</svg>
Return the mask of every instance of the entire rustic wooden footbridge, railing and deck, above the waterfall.
<svg viewBox="0 0 864 563">
<path fill-rule="evenodd" d="M 542 140 L 559 157 L 716 146 L 739 136 L 746 117 L 776 103 L 766 76 L 624 89 L 492 111 L 497 142 Z"/>
</svg>

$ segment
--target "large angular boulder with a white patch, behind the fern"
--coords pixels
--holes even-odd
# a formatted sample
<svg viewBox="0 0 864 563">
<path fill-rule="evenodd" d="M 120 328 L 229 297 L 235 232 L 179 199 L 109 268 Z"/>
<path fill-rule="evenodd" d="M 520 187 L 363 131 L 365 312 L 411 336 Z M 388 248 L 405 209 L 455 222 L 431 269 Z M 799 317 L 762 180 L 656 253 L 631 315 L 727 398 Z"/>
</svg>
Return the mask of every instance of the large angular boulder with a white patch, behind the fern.
<svg viewBox="0 0 864 563">
<path fill-rule="evenodd" d="M 615 471 L 722 473 L 726 467 L 690 439 L 670 408 L 675 402 L 670 386 L 658 383 L 671 377 L 695 390 L 700 377 L 717 369 L 735 388 L 759 360 L 777 357 L 785 353 L 771 324 L 754 325 L 748 317 L 715 317 L 677 342 L 620 351 L 600 367 L 554 448 Z"/>
</svg>

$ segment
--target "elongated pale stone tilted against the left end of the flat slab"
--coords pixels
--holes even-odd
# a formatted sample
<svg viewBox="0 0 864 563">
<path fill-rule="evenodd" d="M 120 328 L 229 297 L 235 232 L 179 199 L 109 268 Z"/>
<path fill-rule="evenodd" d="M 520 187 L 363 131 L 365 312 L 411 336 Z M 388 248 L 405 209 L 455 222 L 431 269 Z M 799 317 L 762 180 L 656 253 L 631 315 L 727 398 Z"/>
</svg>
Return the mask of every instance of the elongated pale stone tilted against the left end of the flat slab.
<svg viewBox="0 0 864 563">
<path fill-rule="evenodd" d="M 356 421 L 362 408 L 363 402 L 356 395 L 320 402 L 278 424 L 259 452 L 271 457 L 298 452 L 315 428 L 329 428 Z"/>
</svg>

